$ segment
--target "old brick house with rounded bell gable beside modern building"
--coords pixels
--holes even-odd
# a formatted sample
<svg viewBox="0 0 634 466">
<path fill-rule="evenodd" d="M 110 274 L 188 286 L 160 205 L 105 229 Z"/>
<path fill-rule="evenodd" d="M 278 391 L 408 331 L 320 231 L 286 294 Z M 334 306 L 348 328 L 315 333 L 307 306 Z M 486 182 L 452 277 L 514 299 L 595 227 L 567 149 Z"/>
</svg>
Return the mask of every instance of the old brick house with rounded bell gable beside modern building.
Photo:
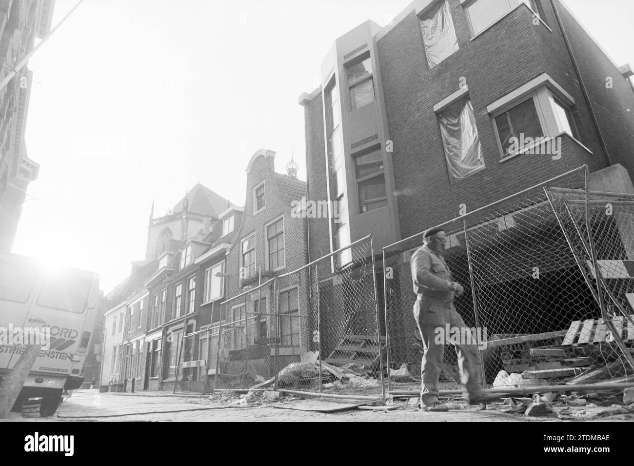
<svg viewBox="0 0 634 466">
<path fill-rule="evenodd" d="M 240 354 L 248 348 L 250 370 L 262 376 L 271 375 L 271 349 L 278 339 L 283 367 L 299 361 L 299 354 L 311 345 L 307 321 L 306 271 L 296 277 L 280 280 L 277 297 L 273 285 L 249 292 L 250 288 L 307 264 L 306 219 L 294 214 L 294 202 L 306 196 L 306 183 L 296 178 L 293 167 L 287 174 L 275 172 L 275 152 L 258 150 L 247 165 L 247 191 L 240 223 L 235 224 L 235 242 L 226 256 L 227 296 L 239 297 L 223 307 L 219 316 L 229 333 L 226 359 L 221 367 L 226 373 L 242 373 L 244 359 Z M 279 328 L 275 327 L 276 299 L 280 302 Z M 240 321 L 246 324 L 241 325 Z M 214 320 L 212 325 L 216 327 Z M 213 328 L 213 327 L 212 327 Z M 232 333 L 233 332 L 233 333 Z M 233 354 L 235 352 L 235 354 Z M 238 363 L 238 361 L 240 361 Z M 234 368 L 232 363 L 240 365 Z"/>
</svg>

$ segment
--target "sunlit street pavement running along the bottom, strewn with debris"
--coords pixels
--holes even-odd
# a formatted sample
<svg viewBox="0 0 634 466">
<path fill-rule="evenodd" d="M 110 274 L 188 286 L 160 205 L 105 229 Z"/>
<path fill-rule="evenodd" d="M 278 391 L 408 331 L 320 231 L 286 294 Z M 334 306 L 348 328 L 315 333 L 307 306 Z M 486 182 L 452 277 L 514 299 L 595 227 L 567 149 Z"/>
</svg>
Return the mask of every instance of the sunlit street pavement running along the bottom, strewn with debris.
<svg viewBox="0 0 634 466">
<path fill-rule="evenodd" d="M 332 413 L 275 408 L 273 405 L 290 407 L 301 400 L 286 396 L 268 399 L 262 392 L 236 394 L 224 392 L 214 396 L 172 395 L 163 392 L 99 393 L 94 390 L 76 390 L 65 400 L 53 417 L 37 415 L 25 417 L 11 413 L 13 422 L 562 422 L 556 413 L 545 417 L 531 418 L 514 413 L 505 413 L 508 406 L 488 405 L 484 411 L 464 403 L 452 403 L 455 409 L 446 412 L 424 412 L 408 406 L 406 400 L 395 401 L 396 409 L 372 411 L 349 409 Z M 332 401 L 332 399 L 323 399 Z M 302 405 L 319 405 L 319 399 Z M 451 401 L 451 400 L 450 400 Z M 633 405 L 634 406 L 634 405 Z M 585 411 L 592 406 L 584 407 Z M 623 408 L 597 408 L 595 415 L 574 420 L 634 420 L 634 410 Z M 607 410 L 607 411 L 606 411 Z M 612 410 L 612 411 L 610 411 Z M 581 411 L 579 411 L 581 412 Z"/>
</svg>

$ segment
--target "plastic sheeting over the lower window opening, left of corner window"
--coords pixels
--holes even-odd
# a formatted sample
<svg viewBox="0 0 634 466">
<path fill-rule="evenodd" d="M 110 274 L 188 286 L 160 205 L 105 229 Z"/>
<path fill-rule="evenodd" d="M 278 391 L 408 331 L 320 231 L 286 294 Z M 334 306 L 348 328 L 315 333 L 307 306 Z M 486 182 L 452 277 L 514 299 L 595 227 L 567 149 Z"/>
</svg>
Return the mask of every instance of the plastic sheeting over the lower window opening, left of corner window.
<svg viewBox="0 0 634 466">
<path fill-rule="evenodd" d="M 453 178 L 467 178 L 484 168 L 482 147 L 475 127 L 474 109 L 462 98 L 438 113 L 444 155 Z"/>
</svg>

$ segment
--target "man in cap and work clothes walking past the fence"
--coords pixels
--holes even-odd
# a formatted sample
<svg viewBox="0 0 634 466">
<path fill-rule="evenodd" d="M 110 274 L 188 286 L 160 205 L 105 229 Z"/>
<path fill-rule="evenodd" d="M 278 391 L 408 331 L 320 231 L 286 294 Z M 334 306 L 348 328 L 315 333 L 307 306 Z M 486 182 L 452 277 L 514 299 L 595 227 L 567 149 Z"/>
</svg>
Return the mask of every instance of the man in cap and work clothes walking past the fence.
<svg viewBox="0 0 634 466">
<path fill-rule="evenodd" d="M 438 379 L 441 373 L 444 343 L 449 341 L 446 324 L 450 328 L 466 328 L 462 317 L 453 307 L 454 296 L 460 296 L 464 288 L 453 282 L 451 271 L 443 258 L 447 242 L 444 230 L 432 228 L 423 234 L 424 245 L 411 256 L 411 278 L 417 300 L 414 304 L 414 318 L 423 340 L 424 354 L 420 366 L 422 379 L 420 406 L 425 411 L 447 411 L 447 405 L 438 402 Z M 439 330 L 437 330 L 439 329 Z M 437 344 L 436 335 L 442 332 L 444 340 Z M 459 333 L 464 335 L 463 332 Z M 465 344 L 456 344 L 460 379 L 467 390 L 469 403 L 486 403 L 482 391 L 481 365 L 475 339 Z"/>
</svg>

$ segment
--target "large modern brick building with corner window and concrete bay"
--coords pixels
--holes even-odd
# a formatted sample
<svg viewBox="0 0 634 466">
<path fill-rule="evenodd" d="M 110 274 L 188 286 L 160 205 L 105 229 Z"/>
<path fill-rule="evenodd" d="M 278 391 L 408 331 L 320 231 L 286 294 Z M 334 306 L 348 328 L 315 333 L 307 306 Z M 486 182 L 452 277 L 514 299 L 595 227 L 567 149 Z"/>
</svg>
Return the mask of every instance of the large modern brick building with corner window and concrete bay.
<svg viewBox="0 0 634 466">
<path fill-rule="evenodd" d="M 593 188 L 631 192 L 631 74 L 558 0 L 417 0 L 359 25 L 300 97 L 309 197 L 344 212 L 311 219 L 311 256 L 370 232 L 380 252 L 583 164 Z M 519 133 L 560 137 L 560 157 L 510 150 Z"/>
</svg>

